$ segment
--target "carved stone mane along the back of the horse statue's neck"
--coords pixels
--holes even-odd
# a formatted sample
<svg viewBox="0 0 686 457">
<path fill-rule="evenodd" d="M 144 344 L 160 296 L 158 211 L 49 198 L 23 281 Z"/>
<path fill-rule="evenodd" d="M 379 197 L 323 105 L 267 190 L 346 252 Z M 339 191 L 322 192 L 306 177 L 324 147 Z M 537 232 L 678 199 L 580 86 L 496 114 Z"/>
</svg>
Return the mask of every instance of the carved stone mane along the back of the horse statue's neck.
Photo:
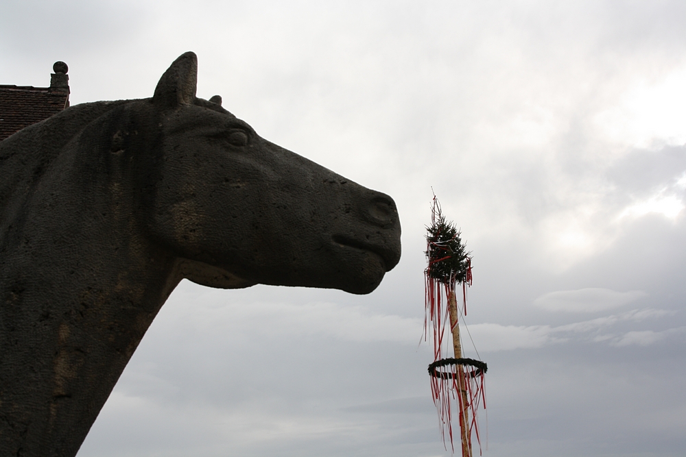
<svg viewBox="0 0 686 457">
<path fill-rule="evenodd" d="M 0 141 L 0 227 L 15 197 L 31 192 L 64 146 L 99 116 L 134 100 L 82 103 Z"/>
</svg>

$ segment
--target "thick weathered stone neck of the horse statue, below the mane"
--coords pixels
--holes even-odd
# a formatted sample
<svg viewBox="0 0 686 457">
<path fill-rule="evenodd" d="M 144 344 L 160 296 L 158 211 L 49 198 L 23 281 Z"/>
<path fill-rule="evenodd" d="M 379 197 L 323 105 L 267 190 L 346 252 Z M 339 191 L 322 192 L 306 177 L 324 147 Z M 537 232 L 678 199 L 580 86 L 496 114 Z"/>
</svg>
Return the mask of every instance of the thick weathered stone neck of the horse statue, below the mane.
<svg viewBox="0 0 686 457">
<path fill-rule="evenodd" d="M 71 138 L 0 213 L 0 416 L 19 430 L 3 455 L 75 454 L 180 280 L 130 180 L 93 171 L 99 140 Z"/>
</svg>

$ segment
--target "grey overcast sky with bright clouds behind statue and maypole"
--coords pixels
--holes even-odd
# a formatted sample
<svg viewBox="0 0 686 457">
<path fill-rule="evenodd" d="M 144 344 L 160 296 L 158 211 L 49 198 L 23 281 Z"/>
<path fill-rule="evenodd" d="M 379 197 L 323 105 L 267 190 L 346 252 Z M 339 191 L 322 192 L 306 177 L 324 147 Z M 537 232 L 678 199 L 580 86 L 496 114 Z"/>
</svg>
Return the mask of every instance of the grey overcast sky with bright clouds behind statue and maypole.
<svg viewBox="0 0 686 457">
<path fill-rule="evenodd" d="M 447 456 L 423 332 L 431 187 L 473 251 L 484 456 L 683 456 L 686 3 L 2 0 L 0 84 L 198 96 L 394 197 L 370 295 L 182 282 L 79 457 Z M 471 344 L 468 356 L 475 356 Z"/>
</svg>

